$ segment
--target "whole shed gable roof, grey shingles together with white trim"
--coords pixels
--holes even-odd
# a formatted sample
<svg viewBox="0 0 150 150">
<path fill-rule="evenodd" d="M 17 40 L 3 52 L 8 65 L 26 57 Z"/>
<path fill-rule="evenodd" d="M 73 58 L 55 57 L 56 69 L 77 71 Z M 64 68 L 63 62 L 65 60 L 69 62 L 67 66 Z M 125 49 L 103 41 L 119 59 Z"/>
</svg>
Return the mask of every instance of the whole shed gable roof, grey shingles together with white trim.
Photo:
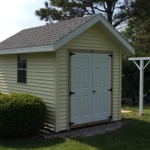
<svg viewBox="0 0 150 150">
<path fill-rule="evenodd" d="M 98 14 L 22 30 L 0 43 L 0 54 L 55 51 L 94 24 L 106 28 L 108 33 L 104 34 L 109 35 L 110 40 L 116 39 L 114 42 L 119 42 L 116 45 L 126 54 L 134 53 L 134 48 Z"/>
</svg>

